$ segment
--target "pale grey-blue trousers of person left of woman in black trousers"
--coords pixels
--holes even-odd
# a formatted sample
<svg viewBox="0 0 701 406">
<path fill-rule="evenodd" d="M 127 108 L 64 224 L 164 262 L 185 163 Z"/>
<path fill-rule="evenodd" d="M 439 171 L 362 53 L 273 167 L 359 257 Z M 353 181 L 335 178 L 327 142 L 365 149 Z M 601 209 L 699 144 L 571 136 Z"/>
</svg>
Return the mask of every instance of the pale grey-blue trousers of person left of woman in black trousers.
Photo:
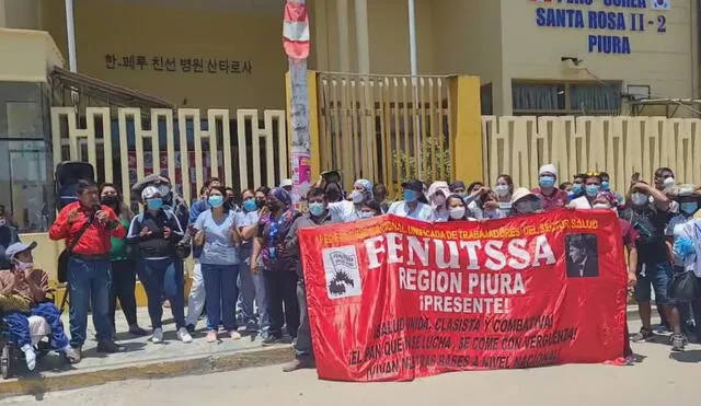
<svg viewBox="0 0 701 406">
<path fill-rule="evenodd" d="M 241 281 L 241 313 L 243 313 L 243 321 L 246 325 L 255 324 L 261 330 L 261 335 L 267 335 L 267 330 L 271 327 L 271 320 L 267 312 L 267 298 L 265 291 L 265 279 L 262 272 L 251 272 L 251 252 L 242 251 L 242 262 L 239 264 L 239 280 Z M 262 269 L 262 267 L 258 267 Z M 258 317 L 256 320 L 255 312 L 253 310 L 253 300 L 258 311 Z"/>
</svg>

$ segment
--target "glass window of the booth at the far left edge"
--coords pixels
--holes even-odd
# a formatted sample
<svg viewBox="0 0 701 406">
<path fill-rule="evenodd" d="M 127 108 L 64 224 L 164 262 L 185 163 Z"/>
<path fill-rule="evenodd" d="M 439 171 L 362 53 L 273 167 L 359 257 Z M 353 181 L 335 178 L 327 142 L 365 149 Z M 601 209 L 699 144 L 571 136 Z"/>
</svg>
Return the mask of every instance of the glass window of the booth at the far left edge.
<svg viewBox="0 0 701 406">
<path fill-rule="evenodd" d="M 20 232 L 55 217 L 48 97 L 42 83 L 0 82 L 0 205 Z"/>
</svg>

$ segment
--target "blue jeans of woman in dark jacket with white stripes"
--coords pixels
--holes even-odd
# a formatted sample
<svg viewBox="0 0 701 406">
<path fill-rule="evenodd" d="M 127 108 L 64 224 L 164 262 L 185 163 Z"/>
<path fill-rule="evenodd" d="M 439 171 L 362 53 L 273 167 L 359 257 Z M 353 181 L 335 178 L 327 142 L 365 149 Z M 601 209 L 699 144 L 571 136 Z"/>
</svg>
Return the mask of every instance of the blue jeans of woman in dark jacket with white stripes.
<svg viewBox="0 0 701 406">
<path fill-rule="evenodd" d="M 146 289 L 149 301 L 149 316 L 153 328 L 162 328 L 163 301 L 165 295 L 171 302 L 171 312 L 177 328 L 185 327 L 185 279 L 183 262 L 176 258 L 139 259 L 137 263 L 139 280 Z"/>
</svg>

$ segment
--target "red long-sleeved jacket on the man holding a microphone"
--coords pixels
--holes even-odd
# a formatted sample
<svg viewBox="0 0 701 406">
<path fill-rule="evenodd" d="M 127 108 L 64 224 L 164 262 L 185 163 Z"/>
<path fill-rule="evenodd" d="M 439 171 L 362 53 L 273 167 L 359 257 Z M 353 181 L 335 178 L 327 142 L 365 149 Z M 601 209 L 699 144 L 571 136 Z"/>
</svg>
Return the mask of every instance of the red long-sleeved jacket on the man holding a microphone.
<svg viewBox="0 0 701 406">
<path fill-rule="evenodd" d="M 73 221 L 72 224 L 69 224 L 68 214 L 73 210 L 78 210 L 78 219 Z M 110 248 L 112 247 L 110 239 L 112 236 L 115 239 L 124 239 L 126 235 L 127 232 L 124 227 L 122 227 L 117 214 L 107 206 L 102 206 L 101 210 L 110 214 L 107 223 L 112 224 L 113 228 L 108 230 L 108 227 L 105 224 L 93 221 L 73 247 L 73 253 L 83 256 L 108 255 Z M 66 240 L 66 245 L 72 243 L 80 229 L 90 221 L 91 214 L 92 210 L 87 210 L 80 201 L 74 201 L 64 207 L 58 213 L 58 218 L 54 224 L 51 224 L 48 236 L 51 240 Z"/>
</svg>

